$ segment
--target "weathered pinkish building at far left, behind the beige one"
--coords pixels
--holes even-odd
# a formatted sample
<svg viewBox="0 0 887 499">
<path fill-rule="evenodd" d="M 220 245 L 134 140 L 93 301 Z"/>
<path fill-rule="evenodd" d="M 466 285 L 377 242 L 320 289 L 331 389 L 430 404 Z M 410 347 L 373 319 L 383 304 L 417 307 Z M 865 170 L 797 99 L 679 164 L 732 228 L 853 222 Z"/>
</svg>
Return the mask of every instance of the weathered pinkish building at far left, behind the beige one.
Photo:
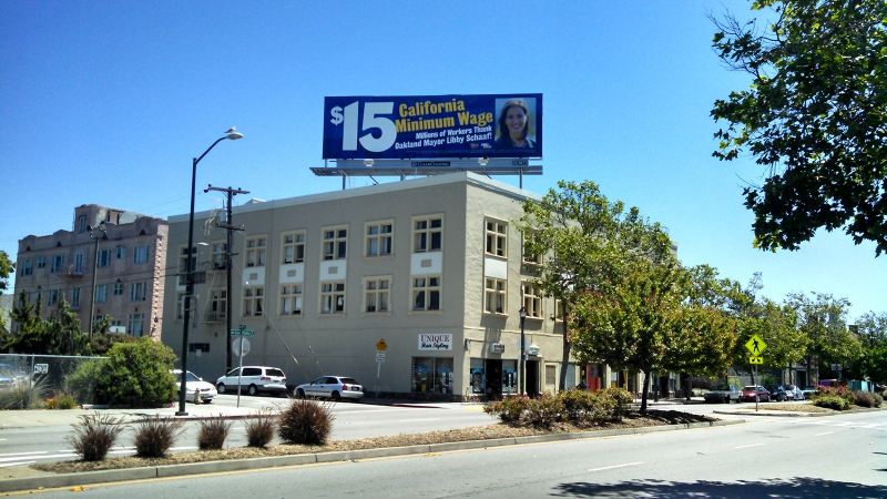
<svg viewBox="0 0 887 499">
<path fill-rule="evenodd" d="M 40 297 L 43 317 L 64 299 L 83 330 L 110 316 L 112 330 L 160 338 L 167 232 L 163 218 L 78 206 L 71 231 L 19 241 L 14 299 L 21 292 L 31 303 Z"/>
</svg>

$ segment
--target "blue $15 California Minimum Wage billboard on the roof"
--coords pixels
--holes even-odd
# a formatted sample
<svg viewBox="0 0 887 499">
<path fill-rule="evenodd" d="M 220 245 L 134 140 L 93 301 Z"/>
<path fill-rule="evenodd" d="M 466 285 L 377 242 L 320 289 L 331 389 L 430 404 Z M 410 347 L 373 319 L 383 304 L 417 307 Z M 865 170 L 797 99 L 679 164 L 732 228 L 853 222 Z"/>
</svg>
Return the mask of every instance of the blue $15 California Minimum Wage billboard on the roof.
<svg viewBox="0 0 887 499">
<path fill-rule="evenodd" d="M 325 99 L 325 160 L 435 157 L 542 157 L 542 94 Z"/>
</svg>

